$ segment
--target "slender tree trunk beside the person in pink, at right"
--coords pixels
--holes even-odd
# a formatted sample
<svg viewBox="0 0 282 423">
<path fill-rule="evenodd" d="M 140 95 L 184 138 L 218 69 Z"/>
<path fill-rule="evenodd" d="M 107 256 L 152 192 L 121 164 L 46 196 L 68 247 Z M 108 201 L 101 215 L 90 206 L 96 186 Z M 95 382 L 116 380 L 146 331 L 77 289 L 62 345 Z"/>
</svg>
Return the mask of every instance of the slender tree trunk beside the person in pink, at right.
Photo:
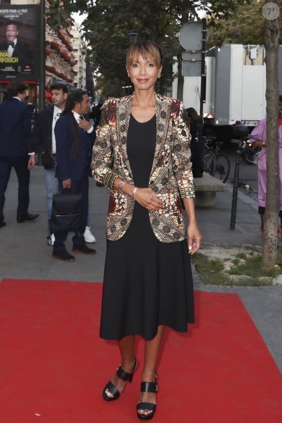
<svg viewBox="0 0 282 423">
<path fill-rule="evenodd" d="M 278 5 L 279 0 L 273 1 Z M 268 0 L 265 0 L 269 4 Z M 267 6 L 265 6 L 267 7 Z M 280 184 L 278 160 L 278 19 L 264 14 L 264 47 L 266 62 L 266 204 L 262 265 L 274 267 L 277 256 L 277 221 L 280 209 Z"/>
</svg>

